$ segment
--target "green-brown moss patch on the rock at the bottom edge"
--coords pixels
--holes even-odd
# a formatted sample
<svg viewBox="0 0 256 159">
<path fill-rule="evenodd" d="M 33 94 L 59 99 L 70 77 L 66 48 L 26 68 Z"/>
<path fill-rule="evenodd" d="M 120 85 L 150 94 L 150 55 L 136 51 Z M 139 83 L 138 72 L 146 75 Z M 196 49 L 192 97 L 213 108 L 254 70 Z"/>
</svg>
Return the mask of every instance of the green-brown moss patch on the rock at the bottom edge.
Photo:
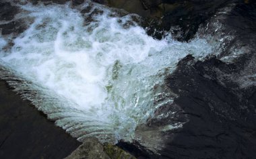
<svg viewBox="0 0 256 159">
<path fill-rule="evenodd" d="M 104 152 L 106 152 L 111 159 L 136 159 L 131 154 L 112 144 L 105 144 L 103 147 Z"/>
</svg>

